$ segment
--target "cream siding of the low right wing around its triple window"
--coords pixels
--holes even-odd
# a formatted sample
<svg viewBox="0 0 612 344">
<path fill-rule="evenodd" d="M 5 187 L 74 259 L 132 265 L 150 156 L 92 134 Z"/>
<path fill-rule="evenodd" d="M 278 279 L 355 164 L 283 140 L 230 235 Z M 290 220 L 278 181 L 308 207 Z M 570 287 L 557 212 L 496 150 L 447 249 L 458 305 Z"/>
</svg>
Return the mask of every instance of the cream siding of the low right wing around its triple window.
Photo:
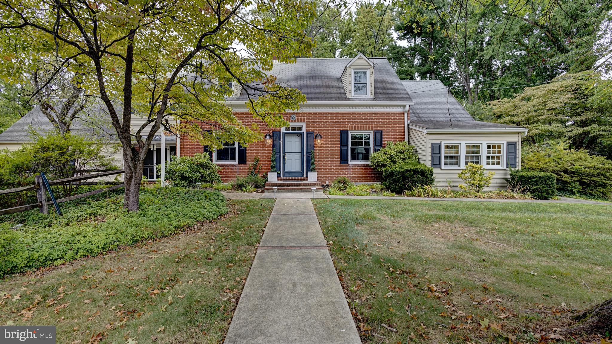
<svg viewBox="0 0 612 344">
<path fill-rule="evenodd" d="M 417 130 L 414 130 L 417 132 Z M 425 144 L 425 151 L 427 152 L 425 156 L 425 160 L 421 162 L 425 162 L 427 166 L 431 166 L 431 143 L 434 142 L 446 142 L 446 143 L 463 143 L 463 142 L 487 142 L 487 143 L 505 143 L 505 142 L 516 142 L 517 143 L 517 168 L 521 166 L 521 138 L 523 137 L 522 133 L 421 133 L 427 137 L 427 144 Z M 413 140 L 412 129 L 410 131 L 410 143 L 415 144 L 416 141 Z M 416 134 L 417 135 L 417 134 Z M 415 142 L 415 143 L 413 143 Z M 417 148 L 418 149 L 418 148 Z M 482 149 L 486 149 L 483 147 Z M 419 158 L 420 158 L 419 152 Z M 504 148 L 504 157 L 502 157 L 504 161 L 506 161 L 506 149 Z M 438 187 L 446 187 L 447 181 L 450 181 L 450 185 L 453 189 L 459 189 L 459 185 L 463 184 L 463 181 L 457 177 L 457 174 L 460 173 L 460 168 L 434 168 L 433 176 L 436 178 L 436 185 Z M 506 179 L 510 178 L 510 170 L 508 168 L 504 169 L 491 169 L 487 171 L 493 171 L 495 175 L 493 176 L 493 181 L 491 181 L 491 186 L 486 190 L 496 190 L 496 189 L 506 189 L 508 184 Z"/>
</svg>

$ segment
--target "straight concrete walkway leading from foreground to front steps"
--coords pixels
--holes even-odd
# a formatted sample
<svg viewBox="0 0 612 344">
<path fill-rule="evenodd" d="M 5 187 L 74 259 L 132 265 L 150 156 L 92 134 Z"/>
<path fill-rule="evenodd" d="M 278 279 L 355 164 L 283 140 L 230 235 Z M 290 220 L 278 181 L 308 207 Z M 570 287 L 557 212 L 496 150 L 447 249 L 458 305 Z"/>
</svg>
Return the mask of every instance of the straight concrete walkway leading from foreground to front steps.
<svg viewBox="0 0 612 344">
<path fill-rule="evenodd" d="M 310 200 L 276 201 L 224 343 L 361 343 Z"/>
</svg>

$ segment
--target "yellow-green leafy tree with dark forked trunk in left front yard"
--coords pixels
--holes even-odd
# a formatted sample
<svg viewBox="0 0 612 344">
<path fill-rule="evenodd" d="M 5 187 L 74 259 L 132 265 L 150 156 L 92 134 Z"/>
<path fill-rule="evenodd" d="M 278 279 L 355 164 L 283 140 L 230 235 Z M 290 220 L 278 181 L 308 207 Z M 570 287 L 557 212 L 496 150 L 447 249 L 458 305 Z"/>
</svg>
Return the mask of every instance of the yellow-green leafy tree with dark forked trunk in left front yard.
<svg viewBox="0 0 612 344">
<path fill-rule="evenodd" d="M 265 73 L 272 59 L 310 53 L 308 0 L 150 2 L 0 0 L 0 75 L 13 82 L 40 65 L 79 76 L 99 98 L 121 141 L 125 203 L 138 210 L 141 171 L 160 128 L 192 135 L 212 148 L 261 139 L 225 105 L 230 81 L 248 110 L 268 127 L 305 102 L 296 89 Z M 238 47 L 241 48 L 238 48 Z M 246 56 L 246 57 L 245 57 Z M 55 73 L 40 84 L 53 83 Z M 144 124 L 132 128 L 132 116 Z M 180 119 L 173 125 L 172 119 Z M 200 122 L 215 123 L 206 132 Z"/>
</svg>

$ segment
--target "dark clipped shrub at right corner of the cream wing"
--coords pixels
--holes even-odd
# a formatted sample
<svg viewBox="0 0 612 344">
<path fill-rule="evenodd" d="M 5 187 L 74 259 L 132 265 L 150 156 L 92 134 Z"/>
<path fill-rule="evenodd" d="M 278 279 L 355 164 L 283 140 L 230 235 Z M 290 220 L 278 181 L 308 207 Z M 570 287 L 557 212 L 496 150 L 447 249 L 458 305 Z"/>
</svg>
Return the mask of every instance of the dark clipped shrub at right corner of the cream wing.
<svg viewBox="0 0 612 344">
<path fill-rule="evenodd" d="M 556 176 L 548 172 L 510 171 L 509 187 L 539 200 L 550 200 L 557 193 Z"/>
</svg>

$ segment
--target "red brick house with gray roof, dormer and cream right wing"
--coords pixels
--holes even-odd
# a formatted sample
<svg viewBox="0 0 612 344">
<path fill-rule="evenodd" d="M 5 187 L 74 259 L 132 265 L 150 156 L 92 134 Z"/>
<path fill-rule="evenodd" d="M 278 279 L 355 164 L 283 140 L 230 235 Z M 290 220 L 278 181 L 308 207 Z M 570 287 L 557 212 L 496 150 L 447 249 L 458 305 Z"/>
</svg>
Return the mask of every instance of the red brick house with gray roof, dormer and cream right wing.
<svg viewBox="0 0 612 344">
<path fill-rule="evenodd" d="M 306 179 L 314 149 L 319 184 L 339 176 L 357 183 L 379 182 L 369 156 L 391 141 L 414 144 L 420 162 L 434 167 L 439 186 L 457 187 L 457 173 L 476 162 L 496 172 L 492 188 L 505 187 L 508 168 L 520 166 L 520 139 L 526 129 L 474 121 L 439 80 L 401 81 L 386 58 L 359 54 L 353 59 L 297 59 L 275 64 L 269 73 L 307 97 L 299 111 L 283 115 L 287 127 L 261 132 L 271 134 L 271 143 L 263 140 L 242 147 L 234 142 L 211 151 L 182 137 L 180 154 L 208 152 L 221 166 L 224 182 L 245 176 L 255 157 L 263 171 L 269 171 L 272 149 L 281 180 Z M 227 103 L 250 125 L 255 119 L 246 100 L 234 88 Z M 315 135 L 321 136 L 320 143 Z"/>
</svg>

